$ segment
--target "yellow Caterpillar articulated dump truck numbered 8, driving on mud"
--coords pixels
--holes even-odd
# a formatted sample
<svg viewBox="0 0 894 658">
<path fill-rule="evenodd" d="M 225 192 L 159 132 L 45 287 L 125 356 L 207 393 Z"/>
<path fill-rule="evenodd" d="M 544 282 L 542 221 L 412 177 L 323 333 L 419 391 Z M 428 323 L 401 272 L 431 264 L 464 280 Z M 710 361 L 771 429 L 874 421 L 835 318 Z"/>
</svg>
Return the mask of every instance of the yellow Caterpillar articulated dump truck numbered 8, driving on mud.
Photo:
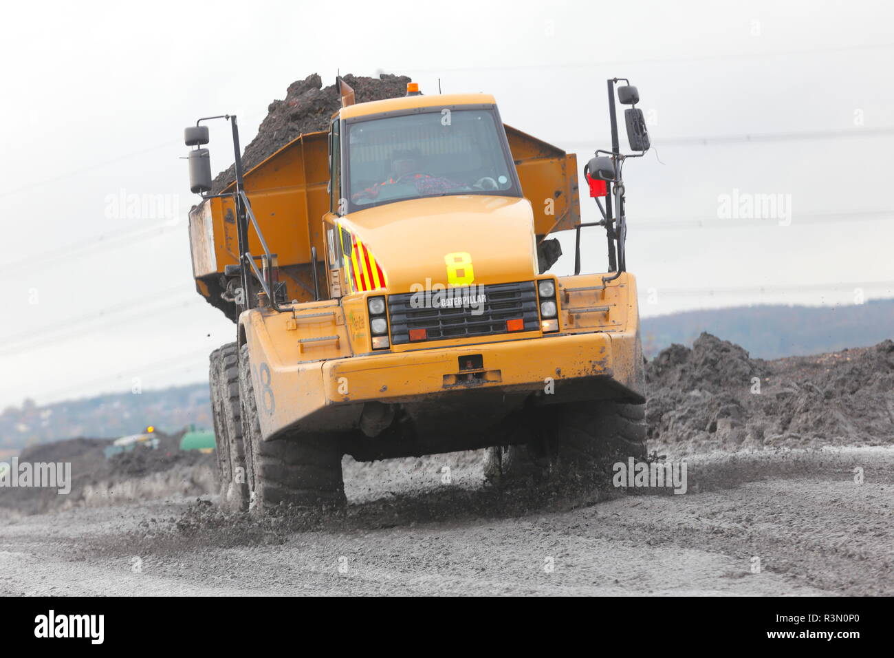
<svg viewBox="0 0 894 658">
<path fill-rule="evenodd" d="M 623 81 L 624 84 L 620 84 Z M 487 94 L 342 107 L 242 171 L 236 117 L 185 131 L 198 292 L 237 325 L 211 355 L 227 508 L 344 500 L 342 457 L 486 449 L 495 486 L 604 476 L 645 458 L 637 285 L 626 271 L 626 158 L 608 81 L 611 150 L 585 168 L 602 219 L 582 224 L 578 164 L 502 124 Z M 207 121 L 232 127 L 235 181 L 212 193 Z M 631 150 L 648 146 L 625 111 Z M 608 271 L 581 274 L 603 226 Z M 548 236 L 576 231 L 573 276 Z M 576 476 L 577 476 L 576 475 Z M 533 478 L 533 480 L 532 480 Z"/>
</svg>

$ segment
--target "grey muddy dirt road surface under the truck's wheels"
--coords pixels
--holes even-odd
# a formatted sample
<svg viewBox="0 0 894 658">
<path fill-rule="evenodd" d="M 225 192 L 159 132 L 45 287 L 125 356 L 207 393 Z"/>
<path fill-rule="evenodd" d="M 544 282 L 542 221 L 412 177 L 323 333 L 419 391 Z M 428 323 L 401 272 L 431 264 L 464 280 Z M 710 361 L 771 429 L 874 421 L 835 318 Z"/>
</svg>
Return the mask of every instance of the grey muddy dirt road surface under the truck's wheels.
<svg viewBox="0 0 894 658">
<path fill-rule="evenodd" d="M 894 594 L 894 449 L 688 466 L 684 495 L 568 499 L 493 491 L 468 453 L 346 461 L 336 515 L 207 496 L 0 519 L 0 594 Z"/>
</svg>

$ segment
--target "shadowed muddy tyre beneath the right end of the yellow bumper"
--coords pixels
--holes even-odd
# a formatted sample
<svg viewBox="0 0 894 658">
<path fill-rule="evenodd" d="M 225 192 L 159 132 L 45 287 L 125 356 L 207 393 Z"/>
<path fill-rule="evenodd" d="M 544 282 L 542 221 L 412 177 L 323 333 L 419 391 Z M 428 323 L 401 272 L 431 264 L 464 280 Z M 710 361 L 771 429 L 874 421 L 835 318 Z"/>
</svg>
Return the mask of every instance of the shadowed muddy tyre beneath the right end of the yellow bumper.
<svg viewBox="0 0 894 658">
<path fill-rule="evenodd" d="M 647 456 L 645 405 L 612 401 L 544 406 L 523 423 L 529 439 L 487 449 L 485 478 L 495 486 L 611 480 L 611 464 Z"/>
</svg>

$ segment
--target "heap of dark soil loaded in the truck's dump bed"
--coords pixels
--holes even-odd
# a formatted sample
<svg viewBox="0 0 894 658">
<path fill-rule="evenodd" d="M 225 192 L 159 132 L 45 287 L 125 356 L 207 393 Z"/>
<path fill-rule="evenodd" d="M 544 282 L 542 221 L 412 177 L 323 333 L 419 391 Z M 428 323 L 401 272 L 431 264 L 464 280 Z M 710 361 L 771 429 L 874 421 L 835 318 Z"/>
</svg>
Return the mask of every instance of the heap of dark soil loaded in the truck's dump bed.
<svg viewBox="0 0 894 658">
<path fill-rule="evenodd" d="M 357 103 L 371 100 L 397 98 L 407 92 L 410 79 L 403 75 L 383 73 L 378 78 L 363 76 L 342 76 L 354 90 Z M 294 81 L 286 90 L 283 100 L 274 100 L 267 107 L 267 115 L 257 129 L 257 136 L 242 153 L 242 164 L 248 171 L 303 132 L 325 131 L 333 112 L 341 107 L 341 97 L 335 85 L 323 87 L 323 81 L 314 73 L 304 80 Z M 236 178 L 236 169 L 231 165 L 217 175 L 214 181 L 215 194 L 231 184 Z"/>
</svg>

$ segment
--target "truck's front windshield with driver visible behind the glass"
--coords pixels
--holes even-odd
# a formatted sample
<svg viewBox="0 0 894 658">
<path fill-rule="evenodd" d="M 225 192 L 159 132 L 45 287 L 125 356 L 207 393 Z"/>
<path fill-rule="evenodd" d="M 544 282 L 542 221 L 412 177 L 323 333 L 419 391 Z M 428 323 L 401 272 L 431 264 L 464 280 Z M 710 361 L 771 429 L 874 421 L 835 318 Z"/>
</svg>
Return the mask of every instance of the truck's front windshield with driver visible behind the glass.
<svg viewBox="0 0 894 658">
<path fill-rule="evenodd" d="M 354 209 L 444 194 L 520 196 L 491 110 L 433 108 L 347 128 Z"/>
</svg>

